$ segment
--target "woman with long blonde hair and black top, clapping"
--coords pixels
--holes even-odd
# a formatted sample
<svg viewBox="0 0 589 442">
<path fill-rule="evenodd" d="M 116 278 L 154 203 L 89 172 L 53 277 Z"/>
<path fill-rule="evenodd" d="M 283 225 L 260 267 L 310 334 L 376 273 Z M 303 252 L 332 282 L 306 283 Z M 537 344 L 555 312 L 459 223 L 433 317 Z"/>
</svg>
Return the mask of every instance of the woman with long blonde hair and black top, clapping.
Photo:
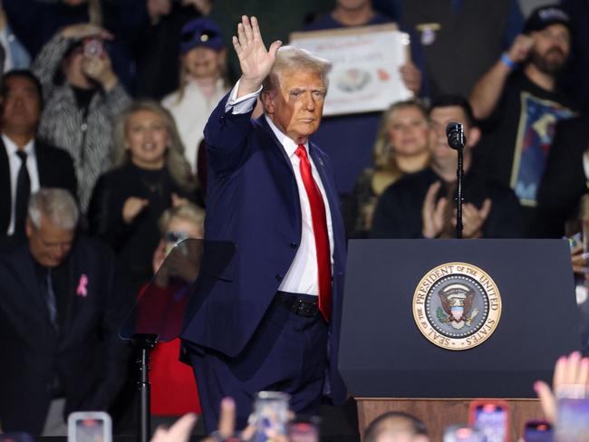
<svg viewBox="0 0 589 442">
<path fill-rule="evenodd" d="M 169 111 L 135 101 L 114 128 L 114 168 L 99 178 L 88 211 L 91 232 L 114 248 L 136 287 L 151 275 L 158 219 L 197 201 L 196 181 Z"/>
</svg>

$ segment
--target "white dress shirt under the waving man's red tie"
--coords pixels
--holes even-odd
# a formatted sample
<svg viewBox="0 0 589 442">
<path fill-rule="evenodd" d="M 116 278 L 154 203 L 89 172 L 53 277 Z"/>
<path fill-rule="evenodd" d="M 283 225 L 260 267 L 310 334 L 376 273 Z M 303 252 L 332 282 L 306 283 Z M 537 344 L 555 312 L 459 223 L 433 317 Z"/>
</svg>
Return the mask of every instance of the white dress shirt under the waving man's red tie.
<svg viewBox="0 0 589 442">
<path fill-rule="evenodd" d="M 238 88 L 239 82 L 237 82 L 229 94 L 226 111 L 231 110 L 234 114 L 251 111 L 256 105 L 257 97 L 259 96 L 260 91 L 262 91 L 262 88 L 254 93 L 250 93 L 237 99 Z M 296 180 L 296 187 L 298 188 L 299 200 L 301 202 L 301 215 L 303 221 L 301 244 L 296 251 L 296 255 L 294 255 L 294 260 L 291 263 L 288 272 L 285 274 L 282 283 L 278 287 L 278 290 L 282 292 L 304 293 L 317 296 L 319 294 L 319 277 L 317 274 L 318 267 L 317 252 L 315 248 L 315 235 L 313 231 L 313 220 L 311 217 L 311 205 L 309 204 L 309 197 L 307 197 L 306 190 L 304 189 L 303 178 L 301 178 L 300 159 L 294 153 L 298 145 L 294 142 L 293 139 L 290 139 L 287 135 L 285 135 L 285 133 L 279 130 L 267 115 L 266 122 L 270 126 L 270 129 L 272 129 L 274 132 L 275 137 L 278 139 L 278 141 L 280 141 L 283 149 L 285 149 L 286 155 L 290 159 L 293 166 L 294 178 Z M 307 156 L 309 158 L 309 162 L 311 163 L 313 178 L 317 183 L 317 186 L 319 187 L 323 197 L 333 269 L 333 223 L 331 209 L 325 195 L 323 182 L 321 181 L 319 172 L 317 171 L 311 154 L 309 153 L 308 141 L 304 144 L 304 148 L 307 149 Z"/>
</svg>

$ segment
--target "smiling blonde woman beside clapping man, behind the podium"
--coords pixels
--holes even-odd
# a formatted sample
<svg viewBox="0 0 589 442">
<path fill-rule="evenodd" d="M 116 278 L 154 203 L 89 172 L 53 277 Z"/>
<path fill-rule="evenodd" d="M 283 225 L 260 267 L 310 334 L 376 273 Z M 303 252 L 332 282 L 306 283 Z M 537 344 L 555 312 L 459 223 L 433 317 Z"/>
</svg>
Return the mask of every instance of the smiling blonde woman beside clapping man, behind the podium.
<svg viewBox="0 0 589 442">
<path fill-rule="evenodd" d="M 372 149 L 373 166 L 362 170 L 352 191 L 348 236 L 362 238 L 372 226 L 381 193 L 403 175 L 418 172 L 430 160 L 428 112 L 420 101 L 399 101 L 382 114 Z"/>
</svg>

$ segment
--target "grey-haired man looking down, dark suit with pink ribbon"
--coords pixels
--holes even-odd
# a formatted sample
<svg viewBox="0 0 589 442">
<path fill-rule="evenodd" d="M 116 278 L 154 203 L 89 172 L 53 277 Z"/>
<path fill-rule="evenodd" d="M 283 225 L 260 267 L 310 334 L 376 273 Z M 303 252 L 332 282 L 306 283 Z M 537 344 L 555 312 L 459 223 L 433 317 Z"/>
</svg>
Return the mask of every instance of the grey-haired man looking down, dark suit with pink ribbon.
<svg viewBox="0 0 589 442">
<path fill-rule="evenodd" d="M 64 436 L 70 412 L 106 410 L 125 380 L 114 256 L 75 235 L 78 216 L 68 191 L 42 188 L 29 203 L 27 241 L 0 248 L 5 431 Z"/>
</svg>

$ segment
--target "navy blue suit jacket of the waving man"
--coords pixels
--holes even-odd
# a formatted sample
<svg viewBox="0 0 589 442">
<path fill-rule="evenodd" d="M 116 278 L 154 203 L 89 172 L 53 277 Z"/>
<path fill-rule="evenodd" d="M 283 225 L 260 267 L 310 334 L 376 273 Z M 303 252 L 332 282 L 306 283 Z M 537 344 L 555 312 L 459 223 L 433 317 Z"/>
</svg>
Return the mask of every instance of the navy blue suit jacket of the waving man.
<svg viewBox="0 0 589 442">
<path fill-rule="evenodd" d="M 208 144 L 206 238 L 237 245 L 221 274 L 201 272 L 206 299 L 188 321 L 182 338 L 234 357 L 244 350 L 294 260 L 302 218 L 294 171 L 265 117 L 225 112 L 227 97 L 211 114 Z M 329 159 L 314 144 L 309 152 L 321 176 L 333 221 L 333 312 L 330 321 L 330 381 L 335 402 L 345 388 L 337 371 L 342 312 L 345 240 L 340 203 Z M 208 259 L 207 250 L 203 267 Z"/>
</svg>

